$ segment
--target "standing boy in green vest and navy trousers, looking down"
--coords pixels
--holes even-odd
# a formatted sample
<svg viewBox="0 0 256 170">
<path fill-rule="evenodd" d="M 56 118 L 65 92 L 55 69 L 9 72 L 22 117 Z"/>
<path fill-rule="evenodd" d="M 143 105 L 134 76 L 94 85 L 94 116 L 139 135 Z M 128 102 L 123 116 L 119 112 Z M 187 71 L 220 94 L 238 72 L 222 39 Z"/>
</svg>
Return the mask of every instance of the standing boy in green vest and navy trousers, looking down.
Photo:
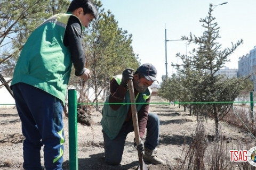
<svg viewBox="0 0 256 170">
<path fill-rule="evenodd" d="M 62 111 L 71 66 L 84 81 L 91 78 L 84 67 L 82 30 L 97 18 L 90 0 L 73 0 L 66 14 L 47 19 L 31 33 L 14 70 L 11 88 L 20 116 L 23 168 L 44 169 L 40 150 L 44 146 L 46 170 L 62 169 Z"/>
</svg>

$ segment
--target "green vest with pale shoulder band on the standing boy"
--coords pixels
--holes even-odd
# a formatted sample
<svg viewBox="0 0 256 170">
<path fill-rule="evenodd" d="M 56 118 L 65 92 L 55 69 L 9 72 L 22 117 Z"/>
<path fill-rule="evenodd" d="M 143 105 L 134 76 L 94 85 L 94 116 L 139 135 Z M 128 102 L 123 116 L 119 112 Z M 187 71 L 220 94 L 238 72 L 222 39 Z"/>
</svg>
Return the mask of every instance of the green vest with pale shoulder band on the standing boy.
<svg viewBox="0 0 256 170">
<path fill-rule="evenodd" d="M 63 38 L 70 16 L 76 17 L 71 14 L 54 15 L 31 33 L 22 48 L 11 86 L 27 83 L 65 103 L 72 62 Z"/>
</svg>

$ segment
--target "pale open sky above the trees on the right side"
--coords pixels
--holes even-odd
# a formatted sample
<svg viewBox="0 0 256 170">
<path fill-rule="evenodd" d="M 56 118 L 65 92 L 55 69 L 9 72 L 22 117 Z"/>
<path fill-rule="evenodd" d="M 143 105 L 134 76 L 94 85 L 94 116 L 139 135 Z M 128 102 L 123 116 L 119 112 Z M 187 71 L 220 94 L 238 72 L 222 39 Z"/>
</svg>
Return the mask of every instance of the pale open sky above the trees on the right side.
<svg viewBox="0 0 256 170">
<path fill-rule="evenodd" d="M 235 53 L 229 56 L 225 66 L 238 69 L 238 58 L 250 53 L 256 45 L 256 1 L 255 0 L 102 0 L 105 11 L 110 10 L 118 21 L 119 28 L 132 34 L 134 53 L 139 54 L 141 64 L 152 63 L 158 71 L 158 79 L 165 75 L 165 29 L 166 39 L 180 39 L 190 32 L 197 37 L 204 31 L 199 22 L 209 12 L 209 4 L 215 6 L 213 16 L 220 27 L 219 43 L 223 48 L 231 48 L 231 42 L 243 39 Z M 189 53 L 195 46 L 186 45 L 186 41 L 167 41 L 167 71 L 171 75 L 175 70 L 171 62 L 179 63 L 175 54 Z"/>
</svg>

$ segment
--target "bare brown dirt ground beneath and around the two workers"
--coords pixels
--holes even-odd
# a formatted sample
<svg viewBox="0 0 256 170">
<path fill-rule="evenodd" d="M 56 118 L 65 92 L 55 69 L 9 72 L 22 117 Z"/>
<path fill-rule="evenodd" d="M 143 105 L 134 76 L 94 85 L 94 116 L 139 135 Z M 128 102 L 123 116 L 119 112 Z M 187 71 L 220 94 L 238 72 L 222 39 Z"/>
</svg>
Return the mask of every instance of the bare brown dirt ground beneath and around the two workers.
<svg viewBox="0 0 256 170">
<path fill-rule="evenodd" d="M 163 99 L 153 96 L 151 102 L 163 102 Z M 172 169 L 180 158 L 184 143 L 191 142 L 197 122 L 195 116 L 183 112 L 183 108 L 167 104 L 152 104 L 150 113 L 155 113 L 160 118 L 159 146 L 156 155 L 166 162 L 166 165 L 151 165 L 146 162 L 149 169 Z M 65 116 L 64 116 L 65 117 Z M 133 147 L 134 133 L 127 136 L 123 159 L 119 166 L 108 166 L 103 157 L 103 137 L 101 132 L 101 114 L 93 110 L 93 125 L 91 127 L 78 123 L 78 168 L 79 169 L 136 169 L 139 165 L 137 150 Z M 69 169 L 69 138 L 68 118 L 65 124 L 65 152 L 63 156 L 63 169 Z M 229 143 L 246 135 L 241 130 L 220 123 L 222 134 Z M 22 140 L 21 122 L 17 110 L 13 107 L 0 107 L 0 169 L 22 169 Z M 205 122 L 207 135 L 213 135 L 214 122 Z M 186 141 L 185 141 L 186 139 Z M 237 148 L 238 149 L 238 148 Z M 43 150 L 43 149 L 42 149 Z M 41 151 L 42 151 L 41 150 Z M 42 151 L 43 163 L 43 151 Z"/>
</svg>

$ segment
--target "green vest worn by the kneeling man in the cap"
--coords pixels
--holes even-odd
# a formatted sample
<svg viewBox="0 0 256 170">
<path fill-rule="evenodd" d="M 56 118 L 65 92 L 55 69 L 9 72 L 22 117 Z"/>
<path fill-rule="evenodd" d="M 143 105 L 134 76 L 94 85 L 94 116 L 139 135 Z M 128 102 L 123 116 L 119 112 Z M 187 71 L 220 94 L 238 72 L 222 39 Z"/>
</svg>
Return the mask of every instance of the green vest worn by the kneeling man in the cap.
<svg viewBox="0 0 256 170">
<path fill-rule="evenodd" d="M 114 77 L 111 77 L 110 79 L 115 79 L 118 84 L 121 84 L 122 81 L 122 75 L 116 75 Z M 151 89 L 148 88 L 145 92 L 139 93 L 136 96 L 136 103 L 146 103 L 146 99 L 148 99 L 151 95 Z M 105 103 L 108 103 L 109 96 L 107 97 Z M 102 120 L 101 120 L 101 125 L 103 131 L 108 135 L 108 137 L 113 140 L 116 135 L 119 133 L 119 131 L 122 128 L 122 125 L 125 121 L 125 118 L 127 116 L 127 113 L 129 111 L 130 104 L 126 103 L 131 103 L 130 101 L 130 94 L 129 90 L 127 90 L 123 104 L 121 107 L 117 109 L 117 111 L 114 111 L 111 109 L 110 105 L 105 104 L 102 108 Z M 139 112 L 142 104 L 137 104 L 136 108 L 137 111 Z"/>
</svg>

